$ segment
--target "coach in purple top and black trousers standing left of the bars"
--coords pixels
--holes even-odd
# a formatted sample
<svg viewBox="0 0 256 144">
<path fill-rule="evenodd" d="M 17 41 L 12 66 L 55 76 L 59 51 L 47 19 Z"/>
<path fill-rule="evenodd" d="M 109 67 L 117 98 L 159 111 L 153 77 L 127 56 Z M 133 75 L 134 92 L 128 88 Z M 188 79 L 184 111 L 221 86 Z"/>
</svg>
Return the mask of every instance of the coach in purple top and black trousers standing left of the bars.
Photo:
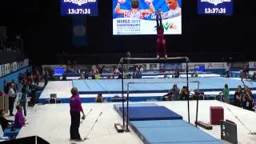
<svg viewBox="0 0 256 144">
<path fill-rule="evenodd" d="M 82 110 L 82 102 L 78 95 L 78 89 L 76 87 L 73 87 L 71 89 L 71 94 L 72 97 L 70 98 L 70 140 L 83 141 L 79 134 L 80 112 L 82 112 L 82 119 L 85 119 L 86 115 Z"/>
</svg>

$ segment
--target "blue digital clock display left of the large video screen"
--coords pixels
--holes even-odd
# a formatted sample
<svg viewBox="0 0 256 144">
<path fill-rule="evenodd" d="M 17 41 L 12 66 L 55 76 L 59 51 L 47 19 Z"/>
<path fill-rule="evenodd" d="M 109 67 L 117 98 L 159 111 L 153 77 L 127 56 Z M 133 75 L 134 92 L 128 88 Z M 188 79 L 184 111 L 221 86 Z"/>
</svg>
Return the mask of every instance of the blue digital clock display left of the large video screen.
<svg viewBox="0 0 256 144">
<path fill-rule="evenodd" d="M 98 0 L 61 0 L 62 15 L 98 16 Z"/>
</svg>

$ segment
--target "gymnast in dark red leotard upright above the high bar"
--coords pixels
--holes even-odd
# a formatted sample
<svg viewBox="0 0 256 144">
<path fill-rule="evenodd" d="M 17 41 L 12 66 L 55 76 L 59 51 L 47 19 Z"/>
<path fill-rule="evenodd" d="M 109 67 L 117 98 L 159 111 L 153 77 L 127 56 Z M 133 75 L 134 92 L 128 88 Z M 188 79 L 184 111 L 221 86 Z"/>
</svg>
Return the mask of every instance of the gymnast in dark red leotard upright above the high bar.
<svg viewBox="0 0 256 144">
<path fill-rule="evenodd" d="M 156 47 L 156 51 L 157 51 L 157 58 L 159 57 L 159 50 L 162 47 L 163 49 L 163 53 L 164 53 L 164 57 L 167 58 L 167 54 L 166 54 L 166 38 L 164 37 L 164 29 L 162 26 L 162 16 L 161 16 L 161 11 L 158 10 L 158 14 L 156 16 L 156 21 L 157 21 L 157 47 Z"/>
</svg>

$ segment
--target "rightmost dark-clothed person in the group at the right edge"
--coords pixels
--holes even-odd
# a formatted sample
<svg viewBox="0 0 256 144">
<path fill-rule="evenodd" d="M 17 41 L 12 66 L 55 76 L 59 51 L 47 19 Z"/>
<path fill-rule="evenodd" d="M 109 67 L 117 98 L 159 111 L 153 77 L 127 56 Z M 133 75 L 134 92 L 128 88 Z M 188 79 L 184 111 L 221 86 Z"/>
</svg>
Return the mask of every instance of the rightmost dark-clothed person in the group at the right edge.
<svg viewBox="0 0 256 144">
<path fill-rule="evenodd" d="M 247 86 L 245 86 L 242 102 L 243 102 L 242 107 L 244 109 L 246 109 L 246 110 L 254 110 L 253 109 L 254 96 L 253 96 L 251 90 Z"/>
</svg>

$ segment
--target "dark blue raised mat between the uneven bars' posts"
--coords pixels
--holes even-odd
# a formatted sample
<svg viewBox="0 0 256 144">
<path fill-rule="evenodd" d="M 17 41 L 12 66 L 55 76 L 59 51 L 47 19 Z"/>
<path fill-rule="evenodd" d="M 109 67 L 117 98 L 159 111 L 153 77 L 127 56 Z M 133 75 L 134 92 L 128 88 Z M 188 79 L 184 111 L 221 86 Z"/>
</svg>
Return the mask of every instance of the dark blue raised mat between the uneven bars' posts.
<svg viewBox="0 0 256 144">
<path fill-rule="evenodd" d="M 125 117 L 127 114 L 125 107 Z M 122 107 L 119 108 L 122 113 Z M 146 121 L 146 120 L 171 120 L 182 119 L 181 115 L 174 113 L 174 111 L 167 109 L 165 106 L 142 106 L 129 107 L 130 121 Z"/>
</svg>

